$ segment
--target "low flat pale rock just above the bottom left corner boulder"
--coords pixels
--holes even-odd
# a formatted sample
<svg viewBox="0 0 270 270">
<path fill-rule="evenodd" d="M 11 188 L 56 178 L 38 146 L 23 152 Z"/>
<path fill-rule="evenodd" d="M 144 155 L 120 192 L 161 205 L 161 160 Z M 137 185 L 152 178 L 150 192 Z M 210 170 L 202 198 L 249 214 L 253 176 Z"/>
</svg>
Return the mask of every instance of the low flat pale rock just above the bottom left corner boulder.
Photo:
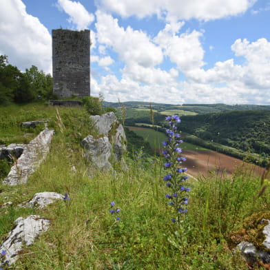
<svg viewBox="0 0 270 270">
<path fill-rule="evenodd" d="M 36 207 L 41 209 L 47 207 L 51 203 L 54 203 L 55 200 L 63 200 L 64 196 L 55 192 L 40 192 L 34 194 L 32 200 L 22 203 L 20 207 Z"/>
</svg>

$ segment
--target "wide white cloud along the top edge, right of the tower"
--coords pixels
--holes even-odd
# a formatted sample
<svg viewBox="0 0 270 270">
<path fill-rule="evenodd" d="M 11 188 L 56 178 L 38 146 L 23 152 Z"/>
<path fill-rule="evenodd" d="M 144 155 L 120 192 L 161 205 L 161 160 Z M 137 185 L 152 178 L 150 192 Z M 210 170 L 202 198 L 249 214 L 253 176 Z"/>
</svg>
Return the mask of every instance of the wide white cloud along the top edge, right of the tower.
<svg viewBox="0 0 270 270">
<path fill-rule="evenodd" d="M 198 19 L 208 21 L 246 12 L 256 0 L 101 0 L 101 8 L 120 14 L 122 17 L 135 15 L 139 18 L 165 14 L 168 21 L 172 19 Z"/>
</svg>

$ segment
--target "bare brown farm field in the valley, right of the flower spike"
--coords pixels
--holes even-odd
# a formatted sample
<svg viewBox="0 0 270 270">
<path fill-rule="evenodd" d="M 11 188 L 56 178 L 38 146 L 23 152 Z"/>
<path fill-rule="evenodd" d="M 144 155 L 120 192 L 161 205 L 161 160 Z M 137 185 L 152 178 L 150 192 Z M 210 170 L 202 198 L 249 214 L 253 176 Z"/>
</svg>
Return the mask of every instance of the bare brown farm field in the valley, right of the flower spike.
<svg viewBox="0 0 270 270">
<path fill-rule="evenodd" d="M 195 178 L 210 176 L 213 172 L 220 176 L 231 176 L 236 170 L 240 170 L 242 174 L 261 176 L 264 170 L 262 167 L 211 150 L 183 150 L 183 156 L 187 157 L 185 167 L 188 174 Z"/>
</svg>

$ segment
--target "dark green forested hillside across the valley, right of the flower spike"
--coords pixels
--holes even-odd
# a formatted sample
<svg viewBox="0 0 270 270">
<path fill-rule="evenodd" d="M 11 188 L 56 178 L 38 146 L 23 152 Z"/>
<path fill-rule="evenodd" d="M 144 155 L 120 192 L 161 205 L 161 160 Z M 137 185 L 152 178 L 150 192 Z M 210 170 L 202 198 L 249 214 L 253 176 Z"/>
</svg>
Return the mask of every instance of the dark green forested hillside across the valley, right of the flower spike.
<svg viewBox="0 0 270 270">
<path fill-rule="evenodd" d="M 183 116 L 181 129 L 205 141 L 270 155 L 270 112 L 233 111 Z"/>
</svg>

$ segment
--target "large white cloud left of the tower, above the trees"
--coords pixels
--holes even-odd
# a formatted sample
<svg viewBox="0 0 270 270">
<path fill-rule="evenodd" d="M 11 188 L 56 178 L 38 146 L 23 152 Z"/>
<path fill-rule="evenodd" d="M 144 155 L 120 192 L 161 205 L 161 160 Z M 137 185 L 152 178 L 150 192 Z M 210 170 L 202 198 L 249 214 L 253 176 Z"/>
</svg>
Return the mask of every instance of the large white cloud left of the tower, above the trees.
<svg viewBox="0 0 270 270">
<path fill-rule="evenodd" d="M 0 1 L 0 54 L 19 69 L 37 65 L 52 72 L 52 39 L 48 29 L 25 10 L 21 0 Z"/>
</svg>

